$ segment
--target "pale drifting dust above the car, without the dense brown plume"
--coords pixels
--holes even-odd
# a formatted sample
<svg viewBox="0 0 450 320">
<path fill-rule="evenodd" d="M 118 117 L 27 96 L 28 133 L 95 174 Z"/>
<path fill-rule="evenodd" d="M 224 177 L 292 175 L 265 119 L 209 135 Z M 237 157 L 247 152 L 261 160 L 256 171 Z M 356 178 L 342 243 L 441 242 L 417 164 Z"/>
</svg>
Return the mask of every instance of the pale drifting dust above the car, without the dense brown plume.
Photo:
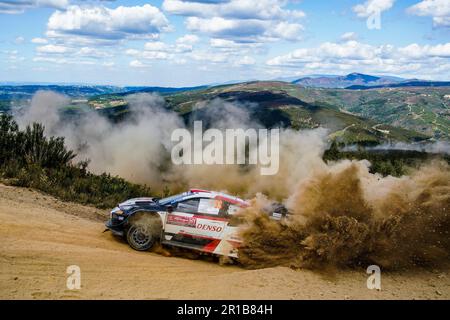
<svg viewBox="0 0 450 320">
<path fill-rule="evenodd" d="M 275 176 L 261 176 L 259 165 L 173 165 L 170 154 L 174 143 L 170 137 L 174 129 L 186 127 L 183 119 L 166 108 L 164 99 L 158 95 L 134 94 L 127 100 L 130 116 L 125 121 L 114 123 L 95 112 L 68 121 L 60 112 L 67 100 L 59 94 L 41 91 L 16 119 L 21 126 L 43 123 L 47 135 L 65 137 L 67 146 L 77 154 L 76 160 L 90 160 L 91 171 L 147 184 L 158 195 L 167 189 L 174 193 L 198 187 L 246 198 L 263 192 L 281 200 L 300 177 L 307 176 L 317 165 L 315 162 L 327 145 L 324 129 L 282 131 L 283 156 Z M 201 102 L 194 107 L 189 121 L 197 120 L 200 114 L 213 128 L 260 128 L 251 119 L 249 107 L 255 106 L 220 99 Z"/>
</svg>

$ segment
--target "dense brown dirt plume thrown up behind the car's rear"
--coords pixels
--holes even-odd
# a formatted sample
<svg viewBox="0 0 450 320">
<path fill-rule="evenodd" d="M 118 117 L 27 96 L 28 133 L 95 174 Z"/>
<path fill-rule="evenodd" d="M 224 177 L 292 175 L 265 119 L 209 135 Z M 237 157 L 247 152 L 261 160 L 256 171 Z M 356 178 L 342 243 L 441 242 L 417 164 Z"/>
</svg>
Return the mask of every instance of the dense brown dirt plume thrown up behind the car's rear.
<svg viewBox="0 0 450 320">
<path fill-rule="evenodd" d="M 301 181 L 276 222 L 257 197 L 243 212 L 241 262 L 250 268 L 398 269 L 450 260 L 450 168 L 432 163 L 409 177 L 382 178 L 365 162 L 343 161 Z"/>
</svg>

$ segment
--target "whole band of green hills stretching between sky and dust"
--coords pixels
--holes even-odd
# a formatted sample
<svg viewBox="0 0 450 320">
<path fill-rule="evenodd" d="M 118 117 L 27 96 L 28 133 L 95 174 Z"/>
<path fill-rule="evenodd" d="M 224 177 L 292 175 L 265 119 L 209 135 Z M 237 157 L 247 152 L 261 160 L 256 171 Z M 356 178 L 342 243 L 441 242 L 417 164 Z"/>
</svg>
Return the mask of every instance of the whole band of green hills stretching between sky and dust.
<svg viewBox="0 0 450 320">
<path fill-rule="evenodd" d="M 363 77 L 364 76 L 364 77 Z M 373 76 L 351 74 L 359 81 L 379 81 Z M 42 89 L 42 86 L 39 88 Z M 27 90 L 31 87 L 27 87 Z M 34 87 L 33 90 L 35 90 Z M 387 140 L 420 141 L 428 138 L 448 140 L 450 137 L 450 87 L 401 87 L 369 90 L 305 88 L 282 81 L 247 82 L 214 87 L 99 87 L 96 89 L 47 87 L 70 97 L 65 114 L 100 112 L 116 120 L 128 113 L 127 96 L 140 92 L 157 92 L 168 107 L 186 122 L 192 118 L 205 120 L 206 109 L 198 103 L 220 98 L 243 102 L 253 119 L 267 127 L 281 125 L 294 129 L 326 127 L 332 137 L 346 143 L 373 144 Z M 19 94 L 7 87 L 0 99 L 0 112 L 13 112 L 27 104 L 33 91 Z M 12 90 L 12 89 L 11 89 Z M 68 90 L 68 91 L 67 91 Z M 113 92 L 108 92 L 113 90 Z M 78 93 L 77 93 L 78 92 Z M 100 94 L 99 94 L 100 93 Z M 11 97 L 19 98 L 11 98 Z M 9 98 L 8 98 L 9 97 Z M 21 100 L 25 99 L 25 100 Z M 195 112 L 193 111 L 193 107 Z M 195 115 L 194 115 L 195 114 Z M 191 120 L 190 120 L 191 119 Z"/>
</svg>

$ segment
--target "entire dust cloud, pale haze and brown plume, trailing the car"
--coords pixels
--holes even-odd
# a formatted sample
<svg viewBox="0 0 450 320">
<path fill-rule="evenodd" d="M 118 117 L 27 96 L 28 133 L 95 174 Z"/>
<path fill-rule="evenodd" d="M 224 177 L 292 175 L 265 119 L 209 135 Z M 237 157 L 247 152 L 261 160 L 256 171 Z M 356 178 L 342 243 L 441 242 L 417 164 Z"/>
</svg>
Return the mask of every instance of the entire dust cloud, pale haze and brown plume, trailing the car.
<svg viewBox="0 0 450 320">
<path fill-rule="evenodd" d="M 90 159 L 91 171 L 145 183 L 155 193 L 198 187 L 253 199 L 241 213 L 239 256 L 249 268 L 371 263 L 397 268 L 449 261 L 447 163 L 429 163 L 400 178 L 371 174 L 368 161 L 325 163 L 328 132 L 319 128 L 281 131 L 280 169 L 274 176 L 261 176 L 257 165 L 176 166 L 170 136 L 186 124 L 161 97 L 130 96 L 131 116 L 120 123 L 94 112 L 64 121 L 58 111 L 64 102 L 57 94 L 38 92 L 18 122 L 44 123 L 49 135 L 66 138 L 79 160 Z M 192 119 L 200 111 L 211 127 L 260 127 L 238 103 L 198 104 Z M 277 222 L 263 213 L 275 201 L 286 205 L 289 218 Z"/>
</svg>

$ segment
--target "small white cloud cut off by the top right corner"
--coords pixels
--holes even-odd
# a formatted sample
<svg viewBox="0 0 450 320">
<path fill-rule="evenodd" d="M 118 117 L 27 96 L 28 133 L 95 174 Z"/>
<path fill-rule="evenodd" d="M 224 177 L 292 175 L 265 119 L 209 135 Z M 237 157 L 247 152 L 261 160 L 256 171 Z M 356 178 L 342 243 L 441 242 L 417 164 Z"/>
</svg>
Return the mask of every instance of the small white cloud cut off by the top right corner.
<svg viewBox="0 0 450 320">
<path fill-rule="evenodd" d="M 448 0 L 423 0 L 409 7 L 408 12 L 417 16 L 432 17 L 435 27 L 450 27 Z"/>
</svg>

